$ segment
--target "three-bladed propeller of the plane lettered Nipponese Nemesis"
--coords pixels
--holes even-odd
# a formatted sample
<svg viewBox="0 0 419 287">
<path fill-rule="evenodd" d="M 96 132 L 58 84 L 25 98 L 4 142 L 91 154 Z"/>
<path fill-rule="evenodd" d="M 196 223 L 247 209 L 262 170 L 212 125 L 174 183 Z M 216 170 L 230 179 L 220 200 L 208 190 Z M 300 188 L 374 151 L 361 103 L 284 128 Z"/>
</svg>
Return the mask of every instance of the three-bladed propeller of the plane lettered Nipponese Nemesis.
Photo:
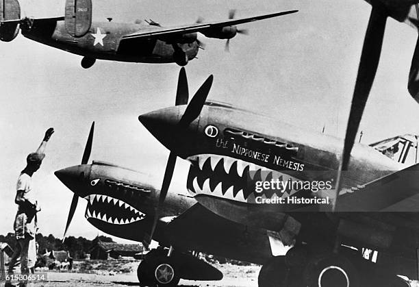
<svg viewBox="0 0 419 287">
<path fill-rule="evenodd" d="M 201 110 L 203 108 L 203 105 L 205 104 L 205 100 L 207 99 L 208 93 L 210 92 L 212 81 L 213 76 L 210 75 L 210 77 L 208 77 L 205 80 L 205 82 L 202 84 L 199 90 L 196 91 L 194 97 L 192 97 L 190 103 L 186 107 L 185 112 L 181 116 L 181 119 L 175 126 L 175 130 L 177 132 L 181 132 L 182 130 L 187 129 L 190 123 L 192 123 L 192 121 L 194 121 L 199 116 L 199 114 L 201 114 Z M 188 79 L 186 77 L 185 68 L 182 67 L 179 72 L 175 105 L 186 105 L 188 103 L 188 97 Z M 153 239 L 155 227 L 157 226 L 157 220 L 160 216 L 160 210 L 162 209 L 162 205 L 164 203 L 164 200 L 166 199 L 168 188 L 173 177 L 173 171 L 175 170 L 176 158 L 177 154 L 174 151 L 170 151 L 166 164 L 166 170 L 164 171 L 159 201 L 155 208 L 155 216 L 153 220 L 153 225 L 151 227 L 150 237 L 148 238 L 148 242 L 146 240 L 146 244 L 149 244 Z"/>
</svg>

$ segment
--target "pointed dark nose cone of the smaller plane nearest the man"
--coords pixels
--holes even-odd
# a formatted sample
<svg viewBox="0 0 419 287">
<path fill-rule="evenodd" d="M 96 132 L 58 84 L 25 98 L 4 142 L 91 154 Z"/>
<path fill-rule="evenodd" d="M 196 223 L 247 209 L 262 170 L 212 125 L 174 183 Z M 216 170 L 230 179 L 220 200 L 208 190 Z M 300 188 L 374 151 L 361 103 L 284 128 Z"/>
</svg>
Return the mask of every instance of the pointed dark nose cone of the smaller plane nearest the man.
<svg viewBox="0 0 419 287">
<path fill-rule="evenodd" d="M 86 165 L 71 166 L 66 169 L 55 171 L 54 174 L 60 181 L 75 194 L 80 195 L 83 188 L 85 175 L 87 175 Z"/>
</svg>

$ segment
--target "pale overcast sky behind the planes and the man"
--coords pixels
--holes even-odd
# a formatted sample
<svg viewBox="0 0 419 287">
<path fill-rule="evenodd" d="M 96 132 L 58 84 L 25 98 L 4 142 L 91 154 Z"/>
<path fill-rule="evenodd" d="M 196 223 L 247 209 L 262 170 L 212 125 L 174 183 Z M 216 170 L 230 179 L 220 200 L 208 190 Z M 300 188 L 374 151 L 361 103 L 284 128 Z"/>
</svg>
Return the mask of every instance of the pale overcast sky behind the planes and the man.
<svg viewBox="0 0 419 287">
<path fill-rule="evenodd" d="M 41 3 L 40 3 L 41 2 Z M 214 74 L 209 99 L 234 103 L 293 125 L 344 136 L 357 64 L 370 14 L 365 1 L 93 1 L 93 17 L 134 22 L 152 18 L 162 25 L 221 20 L 236 16 L 300 10 L 241 25 L 224 51 L 225 40 L 207 39 L 198 60 L 186 66 L 191 94 Z M 62 16 L 64 1 L 26 1 L 22 16 Z M 417 32 L 389 19 L 377 77 L 361 129 L 365 143 L 396 134 L 419 134 L 419 105 L 407 92 L 407 76 Z M 154 177 L 164 173 L 168 151 L 138 122 L 138 115 L 173 105 L 179 66 L 97 61 L 84 70 L 81 57 L 23 36 L 0 43 L 0 234 L 12 232 L 17 206 L 16 179 L 27 153 L 35 151 L 48 127 L 55 128 L 47 157 L 34 175 L 42 212 L 40 232 L 62 237 L 73 193 L 53 171 L 81 162 L 92 121 L 90 160 L 127 166 Z M 178 160 L 173 189 L 186 186 L 188 164 Z M 84 219 L 79 200 L 68 235 L 102 234 Z M 120 240 L 123 241 L 123 240 Z"/>
</svg>

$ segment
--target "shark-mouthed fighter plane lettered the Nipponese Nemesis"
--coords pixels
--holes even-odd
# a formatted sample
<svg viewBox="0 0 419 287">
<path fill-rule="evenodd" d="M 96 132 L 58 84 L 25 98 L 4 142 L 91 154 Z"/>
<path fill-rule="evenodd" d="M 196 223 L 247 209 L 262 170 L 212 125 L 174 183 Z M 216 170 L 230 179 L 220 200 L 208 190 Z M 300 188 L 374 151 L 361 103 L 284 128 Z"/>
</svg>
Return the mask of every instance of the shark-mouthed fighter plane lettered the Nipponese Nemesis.
<svg viewBox="0 0 419 287">
<path fill-rule="evenodd" d="M 204 98 L 193 104 L 193 116 L 192 101 L 139 116 L 170 150 L 162 190 L 176 158 L 188 160 L 196 201 L 294 245 L 264 264 L 260 287 L 406 286 L 397 274 L 418 278 L 419 165 L 406 162 L 418 153 L 417 136 L 355 144 L 336 198 L 343 140 Z M 376 263 L 362 258 L 365 248 L 378 251 Z"/>
</svg>

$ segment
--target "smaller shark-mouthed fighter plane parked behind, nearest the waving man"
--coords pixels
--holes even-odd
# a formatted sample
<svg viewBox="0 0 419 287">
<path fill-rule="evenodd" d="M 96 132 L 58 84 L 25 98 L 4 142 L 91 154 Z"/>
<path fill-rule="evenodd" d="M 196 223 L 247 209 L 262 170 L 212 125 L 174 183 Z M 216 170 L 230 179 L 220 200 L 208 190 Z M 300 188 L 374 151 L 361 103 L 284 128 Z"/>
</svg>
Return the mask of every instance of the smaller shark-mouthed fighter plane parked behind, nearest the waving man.
<svg viewBox="0 0 419 287">
<path fill-rule="evenodd" d="M 178 88 L 177 103 L 188 102 L 187 90 Z M 197 95 L 202 97 L 202 92 L 205 90 Z M 153 238 L 160 247 L 149 251 L 140 262 L 140 286 L 176 286 L 181 278 L 222 279 L 218 269 L 188 251 L 263 264 L 283 250 L 281 242 L 269 239 L 266 229 L 224 219 L 197 203 L 184 188 L 179 193 L 166 192 L 162 203 L 162 191 L 149 183 L 149 176 L 107 162 L 88 164 L 93 130 L 94 123 L 81 164 L 55 171 L 74 192 L 64 238 L 79 197 L 88 201 L 87 221 L 102 232 L 146 246 Z"/>
</svg>

